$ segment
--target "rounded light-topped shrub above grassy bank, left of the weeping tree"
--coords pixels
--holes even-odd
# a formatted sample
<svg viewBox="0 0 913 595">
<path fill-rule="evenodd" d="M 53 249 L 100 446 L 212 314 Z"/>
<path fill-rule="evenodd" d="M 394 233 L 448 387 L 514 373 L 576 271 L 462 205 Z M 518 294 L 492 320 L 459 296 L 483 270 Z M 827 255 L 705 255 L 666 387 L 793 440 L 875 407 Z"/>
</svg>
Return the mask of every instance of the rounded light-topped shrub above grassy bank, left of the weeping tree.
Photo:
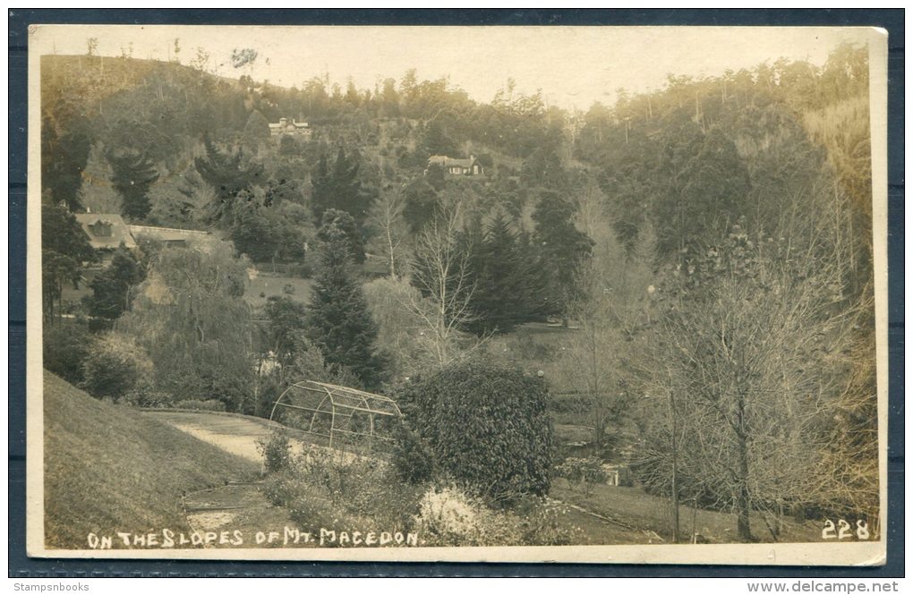
<svg viewBox="0 0 913 595">
<path fill-rule="evenodd" d="M 89 350 L 84 370 L 89 394 L 120 399 L 152 373 L 152 361 L 135 341 L 111 333 Z"/>
</svg>

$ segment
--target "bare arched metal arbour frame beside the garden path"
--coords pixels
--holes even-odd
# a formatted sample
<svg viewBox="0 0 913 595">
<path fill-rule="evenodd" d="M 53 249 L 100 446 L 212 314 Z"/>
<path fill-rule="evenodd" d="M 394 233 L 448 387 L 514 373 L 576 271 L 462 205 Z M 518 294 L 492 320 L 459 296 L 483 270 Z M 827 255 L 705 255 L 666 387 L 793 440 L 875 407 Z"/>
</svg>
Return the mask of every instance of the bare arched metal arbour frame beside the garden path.
<svg viewBox="0 0 913 595">
<path fill-rule="evenodd" d="M 277 416 L 277 411 L 279 415 Z M 379 419 L 403 415 L 390 397 L 318 381 L 295 382 L 282 391 L 269 413 L 269 421 L 282 422 L 296 429 L 339 441 L 341 434 L 356 440 L 374 438 L 390 440 L 379 433 L 384 425 Z"/>
</svg>

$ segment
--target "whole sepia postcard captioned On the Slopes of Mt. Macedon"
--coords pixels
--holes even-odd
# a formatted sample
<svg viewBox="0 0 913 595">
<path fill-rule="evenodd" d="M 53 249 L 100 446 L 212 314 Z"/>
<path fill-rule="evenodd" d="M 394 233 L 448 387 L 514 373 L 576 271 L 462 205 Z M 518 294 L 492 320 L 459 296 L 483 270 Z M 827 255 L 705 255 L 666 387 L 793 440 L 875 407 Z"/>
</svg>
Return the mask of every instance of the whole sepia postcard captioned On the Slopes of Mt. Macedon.
<svg viewBox="0 0 913 595">
<path fill-rule="evenodd" d="M 28 52 L 30 556 L 885 563 L 884 30 Z"/>
</svg>

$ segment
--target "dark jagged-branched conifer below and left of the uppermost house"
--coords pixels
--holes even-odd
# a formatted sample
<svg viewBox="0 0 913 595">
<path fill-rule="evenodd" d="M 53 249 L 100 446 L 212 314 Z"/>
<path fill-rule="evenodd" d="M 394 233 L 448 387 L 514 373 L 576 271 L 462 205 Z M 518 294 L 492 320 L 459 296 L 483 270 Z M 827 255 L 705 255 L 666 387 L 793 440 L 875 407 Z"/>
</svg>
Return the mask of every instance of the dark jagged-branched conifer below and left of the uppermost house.
<svg viewBox="0 0 913 595">
<path fill-rule="evenodd" d="M 215 191 L 215 201 L 208 205 L 209 218 L 226 224 L 230 221 L 238 196 L 259 183 L 263 164 L 244 162 L 244 151 L 223 152 L 204 136 L 205 157 L 194 158 L 196 171 Z"/>
</svg>

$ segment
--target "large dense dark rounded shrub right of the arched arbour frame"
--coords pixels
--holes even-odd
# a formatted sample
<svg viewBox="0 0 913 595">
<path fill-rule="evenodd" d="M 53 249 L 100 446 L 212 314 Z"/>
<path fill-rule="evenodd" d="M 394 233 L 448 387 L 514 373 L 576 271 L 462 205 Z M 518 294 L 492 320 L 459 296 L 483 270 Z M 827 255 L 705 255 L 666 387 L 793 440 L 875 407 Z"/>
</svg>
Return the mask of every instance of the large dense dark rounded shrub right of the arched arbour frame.
<svg viewBox="0 0 913 595">
<path fill-rule="evenodd" d="M 436 465 L 458 485 L 506 504 L 548 492 L 553 436 L 543 381 L 469 360 L 410 382 L 400 396 Z"/>
</svg>

